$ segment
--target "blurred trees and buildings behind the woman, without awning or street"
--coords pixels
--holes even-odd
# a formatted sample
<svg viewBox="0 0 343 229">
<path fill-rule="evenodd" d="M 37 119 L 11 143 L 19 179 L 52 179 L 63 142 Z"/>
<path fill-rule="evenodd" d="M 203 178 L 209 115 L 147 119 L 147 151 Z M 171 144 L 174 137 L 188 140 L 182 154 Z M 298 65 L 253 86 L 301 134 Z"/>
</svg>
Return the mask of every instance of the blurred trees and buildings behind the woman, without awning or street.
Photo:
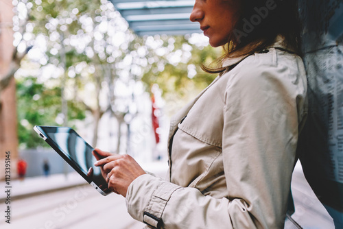
<svg viewBox="0 0 343 229">
<path fill-rule="evenodd" d="M 1 1 L 1 16 L 1 152 L 25 160 L 27 177 L 44 161 L 62 172 L 34 125 L 162 159 L 170 115 L 213 80 L 200 63 L 221 52 L 202 34 L 139 36 L 110 1 Z"/>
</svg>

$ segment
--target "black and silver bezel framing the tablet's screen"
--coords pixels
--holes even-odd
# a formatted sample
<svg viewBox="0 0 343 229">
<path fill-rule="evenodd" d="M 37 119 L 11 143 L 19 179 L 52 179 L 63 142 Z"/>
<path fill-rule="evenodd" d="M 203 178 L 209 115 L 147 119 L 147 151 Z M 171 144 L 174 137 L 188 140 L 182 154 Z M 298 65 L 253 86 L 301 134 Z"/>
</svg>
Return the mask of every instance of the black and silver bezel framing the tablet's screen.
<svg viewBox="0 0 343 229">
<path fill-rule="evenodd" d="M 75 160 L 73 160 L 73 158 L 69 158 L 66 154 L 64 154 L 64 152 L 62 152 L 63 150 L 60 149 L 60 147 L 58 147 L 58 144 L 52 140 L 48 134 L 45 133 L 46 130 L 43 130 L 44 128 L 58 128 L 60 130 L 62 130 L 62 132 L 69 132 L 69 130 L 73 131 L 77 136 L 79 136 L 84 143 L 91 147 L 91 145 L 89 145 L 84 138 L 82 138 L 77 132 L 75 132 L 75 130 L 73 130 L 72 128 L 69 127 L 60 127 L 60 126 L 47 126 L 47 125 L 35 125 L 34 126 L 34 130 L 37 132 L 37 134 L 43 138 L 43 140 L 50 145 L 50 147 L 52 147 L 71 167 L 73 167 L 73 169 L 75 171 L 77 171 L 80 176 L 82 176 L 82 178 L 84 178 L 84 180 L 86 180 L 89 184 L 91 184 L 99 193 L 101 193 L 102 195 L 108 195 L 111 193 L 111 191 L 106 189 L 101 189 L 99 184 L 97 184 L 97 180 L 93 180 L 92 178 L 86 176 L 86 174 L 84 174 L 84 171 L 82 170 L 82 168 L 80 167 L 80 165 L 78 164 L 78 162 L 76 162 Z M 68 131 L 67 131 L 68 130 Z M 47 131 L 48 132 L 48 131 Z M 93 147 L 91 147 L 91 149 L 94 149 Z M 104 181 L 106 182 L 106 180 L 104 179 Z"/>
</svg>

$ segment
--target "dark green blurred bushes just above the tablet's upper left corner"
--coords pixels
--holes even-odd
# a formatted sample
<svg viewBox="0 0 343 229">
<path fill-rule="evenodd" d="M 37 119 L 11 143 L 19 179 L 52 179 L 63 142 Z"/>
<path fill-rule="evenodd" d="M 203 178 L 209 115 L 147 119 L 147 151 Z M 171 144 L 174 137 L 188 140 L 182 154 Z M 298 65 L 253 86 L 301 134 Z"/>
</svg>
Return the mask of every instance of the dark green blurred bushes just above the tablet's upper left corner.
<svg viewBox="0 0 343 229">
<path fill-rule="evenodd" d="M 34 125 L 58 125 L 56 117 L 61 112 L 61 90 L 58 86 L 48 88 L 37 82 L 36 77 L 16 80 L 18 136 L 21 147 L 47 147 L 33 131 Z M 68 118 L 84 119 L 84 107 L 68 101 Z"/>
</svg>

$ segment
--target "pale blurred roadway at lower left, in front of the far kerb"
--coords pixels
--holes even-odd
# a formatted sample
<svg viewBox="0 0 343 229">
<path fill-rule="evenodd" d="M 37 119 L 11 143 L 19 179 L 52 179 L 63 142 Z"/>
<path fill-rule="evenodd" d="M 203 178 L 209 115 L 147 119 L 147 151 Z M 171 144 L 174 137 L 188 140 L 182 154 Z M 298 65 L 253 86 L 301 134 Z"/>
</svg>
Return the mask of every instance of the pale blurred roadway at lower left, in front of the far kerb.
<svg viewBox="0 0 343 229">
<path fill-rule="evenodd" d="M 143 228 L 128 215 L 122 196 L 104 197 L 89 184 L 14 200 L 12 209 L 11 224 L 2 220 L 0 228 Z"/>
</svg>

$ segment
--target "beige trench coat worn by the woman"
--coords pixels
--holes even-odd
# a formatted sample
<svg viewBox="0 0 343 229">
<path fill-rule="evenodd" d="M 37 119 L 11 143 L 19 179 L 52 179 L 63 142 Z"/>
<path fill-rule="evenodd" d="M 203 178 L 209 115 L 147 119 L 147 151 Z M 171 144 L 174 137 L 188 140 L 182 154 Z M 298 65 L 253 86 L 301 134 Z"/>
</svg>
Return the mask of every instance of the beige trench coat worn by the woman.
<svg viewBox="0 0 343 229">
<path fill-rule="evenodd" d="M 238 64 L 176 114 L 168 179 L 146 174 L 128 188 L 134 219 L 146 228 L 283 228 L 307 114 L 303 61 L 283 49 L 226 60 Z"/>
</svg>

